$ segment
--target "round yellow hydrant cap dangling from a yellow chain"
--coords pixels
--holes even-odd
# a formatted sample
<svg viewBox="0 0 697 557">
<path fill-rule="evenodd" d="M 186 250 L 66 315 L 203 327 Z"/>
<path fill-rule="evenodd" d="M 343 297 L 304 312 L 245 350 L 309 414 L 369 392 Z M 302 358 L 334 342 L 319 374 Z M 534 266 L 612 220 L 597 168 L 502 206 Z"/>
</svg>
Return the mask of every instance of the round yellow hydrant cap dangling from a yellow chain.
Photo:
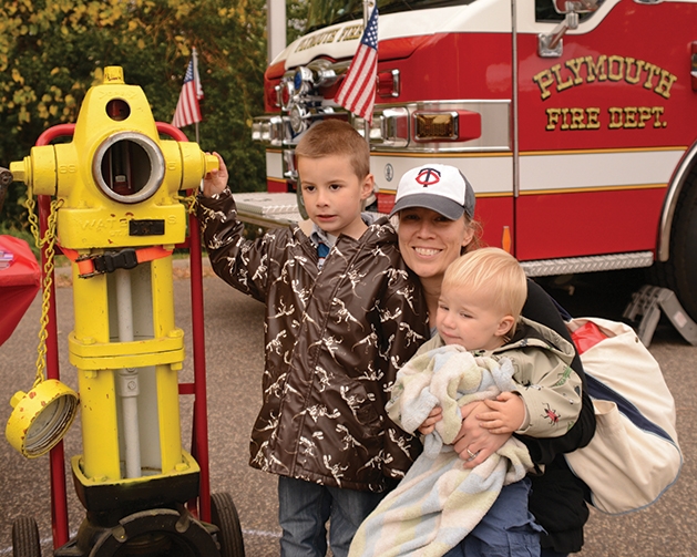
<svg viewBox="0 0 697 557">
<path fill-rule="evenodd" d="M 4 435 L 28 458 L 48 453 L 65 435 L 79 409 L 79 396 L 55 379 L 42 381 L 28 393 L 18 391 Z"/>
</svg>

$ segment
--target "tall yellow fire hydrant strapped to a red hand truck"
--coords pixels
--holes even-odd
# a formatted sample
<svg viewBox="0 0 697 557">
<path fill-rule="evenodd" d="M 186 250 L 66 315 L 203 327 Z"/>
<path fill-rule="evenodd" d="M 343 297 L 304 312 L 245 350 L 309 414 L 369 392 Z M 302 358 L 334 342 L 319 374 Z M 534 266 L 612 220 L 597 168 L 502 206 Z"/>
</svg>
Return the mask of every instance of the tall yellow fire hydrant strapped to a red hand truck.
<svg viewBox="0 0 697 557">
<path fill-rule="evenodd" d="M 83 505 L 102 516 L 93 527 L 197 494 L 198 465 L 181 444 L 172 250 L 187 226 L 177 193 L 213 168 L 197 144 L 160 138 L 145 94 L 117 66 L 86 93 L 72 142 L 10 165 L 34 195 L 62 200 L 83 443 L 71 464 Z"/>
</svg>

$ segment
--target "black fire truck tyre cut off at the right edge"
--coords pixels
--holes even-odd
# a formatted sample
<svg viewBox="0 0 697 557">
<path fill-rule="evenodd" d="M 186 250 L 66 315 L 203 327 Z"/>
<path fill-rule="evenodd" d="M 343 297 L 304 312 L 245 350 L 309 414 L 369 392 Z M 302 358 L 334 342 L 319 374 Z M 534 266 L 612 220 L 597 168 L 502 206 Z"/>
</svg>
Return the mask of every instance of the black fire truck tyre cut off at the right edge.
<svg viewBox="0 0 697 557">
<path fill-rule="evenodd" d="M 670 258 L 656 270 L 659 282 L 676 293 L 683 309 L 697 321 L 697 169 L 688 176 L 675 208 Z"/>
</svg>

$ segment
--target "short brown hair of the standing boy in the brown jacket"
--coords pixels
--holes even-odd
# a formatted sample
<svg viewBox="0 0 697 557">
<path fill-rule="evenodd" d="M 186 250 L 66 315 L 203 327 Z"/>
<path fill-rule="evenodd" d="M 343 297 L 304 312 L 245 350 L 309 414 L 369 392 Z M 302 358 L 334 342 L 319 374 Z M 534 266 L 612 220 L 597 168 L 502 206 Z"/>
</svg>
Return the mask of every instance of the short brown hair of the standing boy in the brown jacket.
<svg viewBox="0 0 697 557">
<path fill-rule="evenodd" d="M 330 155 L 348 155 L 351 168 L 360 179 L 370 174 L 368 142 L 348 122 L 324 120 L 305 132 L 295 148 L 297 158 Z"/>
</svg>

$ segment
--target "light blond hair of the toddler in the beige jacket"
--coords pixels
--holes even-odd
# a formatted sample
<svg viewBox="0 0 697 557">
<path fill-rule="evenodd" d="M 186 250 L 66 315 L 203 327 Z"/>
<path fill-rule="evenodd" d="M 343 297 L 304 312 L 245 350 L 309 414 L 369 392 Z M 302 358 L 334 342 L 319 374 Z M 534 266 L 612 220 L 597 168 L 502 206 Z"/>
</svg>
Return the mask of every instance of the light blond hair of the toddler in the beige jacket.
<svg viewBox="0 0 697 557">
<path fill-rule="evenodd" d="M 445 270 L 441 288 L 491 292 L 495 308 L 516 322 L 527 298 L 525 271 L 517 259 L 500 248 L 480 248 L 460 256 Z"/>
</svg>

